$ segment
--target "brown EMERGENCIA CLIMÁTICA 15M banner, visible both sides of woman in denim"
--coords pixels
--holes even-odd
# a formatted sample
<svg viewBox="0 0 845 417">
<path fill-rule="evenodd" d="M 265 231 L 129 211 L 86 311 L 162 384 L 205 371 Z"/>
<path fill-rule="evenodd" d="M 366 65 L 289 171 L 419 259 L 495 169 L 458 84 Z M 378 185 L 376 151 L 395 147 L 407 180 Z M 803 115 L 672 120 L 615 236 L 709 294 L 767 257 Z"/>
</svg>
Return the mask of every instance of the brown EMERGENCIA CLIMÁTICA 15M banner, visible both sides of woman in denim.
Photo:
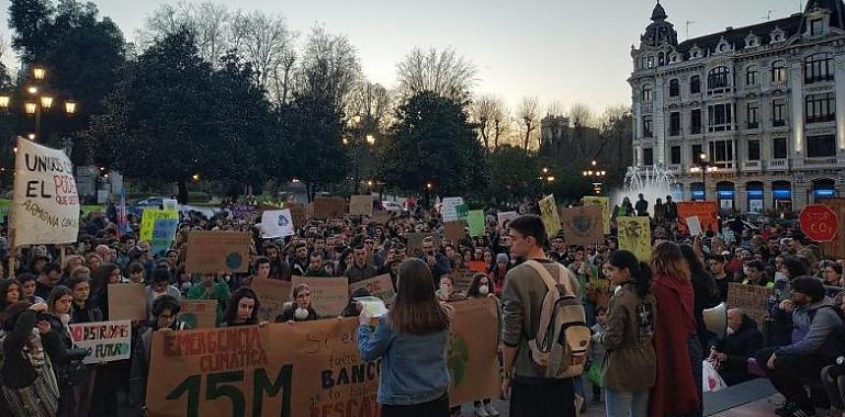
<svg viewBox="0 0 845 417">
<path fill-rule="evenodd" d="M 480 298 L 453 307 L 447 357 L 450 402 L 496 396 L 502 385 L 496 303 Z M 379 362 L 361 359 L 358 326 L 354 317 L 156 331 L 147 379 L 149 414 L 376 417 Z"/>
</svg>

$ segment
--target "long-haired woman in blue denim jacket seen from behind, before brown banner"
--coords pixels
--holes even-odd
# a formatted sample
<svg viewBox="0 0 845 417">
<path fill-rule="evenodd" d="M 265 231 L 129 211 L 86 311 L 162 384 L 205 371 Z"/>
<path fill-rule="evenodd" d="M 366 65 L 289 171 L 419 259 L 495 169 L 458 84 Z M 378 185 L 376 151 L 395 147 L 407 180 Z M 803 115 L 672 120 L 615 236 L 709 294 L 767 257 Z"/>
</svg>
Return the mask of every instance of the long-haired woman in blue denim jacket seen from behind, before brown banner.
<svg viewBox="0 0 845 417">
<path fill-rule="evenodd" d="M 358 347 L 361 358 L 381 358 L 379 404 L 382 417 L 448 417 L 450 308 L 435 298 L 426 262 L 407 259 L 399 266 L 393 308 L 378 318 L 361 311 Z"/>
</svg>

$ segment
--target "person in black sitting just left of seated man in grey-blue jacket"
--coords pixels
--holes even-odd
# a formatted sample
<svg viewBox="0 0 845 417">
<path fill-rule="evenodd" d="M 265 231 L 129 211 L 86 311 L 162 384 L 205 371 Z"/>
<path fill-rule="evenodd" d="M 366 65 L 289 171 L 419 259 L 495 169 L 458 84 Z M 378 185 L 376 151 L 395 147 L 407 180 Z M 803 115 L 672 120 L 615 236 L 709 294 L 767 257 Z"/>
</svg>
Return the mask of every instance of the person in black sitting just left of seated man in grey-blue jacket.
<svg viewBox="0 0 845 417">
<path fill-rule="evenodd" d="M 717 369 L 728 386 L 750 381 L 756 376 L 748 373 L 748 358 L 763 348 L 763 334 L 757 323 L 740 308 L 728 311 L 728 336 L 717 338 L 710 347 L 710 359 L 719 364 Z"/>
</svg>

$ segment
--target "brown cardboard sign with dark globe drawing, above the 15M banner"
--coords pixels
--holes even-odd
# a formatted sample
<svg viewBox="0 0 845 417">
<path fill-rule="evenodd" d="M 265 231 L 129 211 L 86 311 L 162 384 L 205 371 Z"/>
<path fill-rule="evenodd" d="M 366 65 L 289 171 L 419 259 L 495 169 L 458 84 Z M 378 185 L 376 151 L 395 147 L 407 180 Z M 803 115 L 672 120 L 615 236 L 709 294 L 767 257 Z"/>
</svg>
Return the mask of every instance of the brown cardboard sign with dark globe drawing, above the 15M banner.
<svg viewBox="0 0 845 417">
<path fill-rule="evenodd" d="M 223 230 L 188 233 L 188 273 L 234 273 L 249 271 L 250 234 Z"/>
</svg>

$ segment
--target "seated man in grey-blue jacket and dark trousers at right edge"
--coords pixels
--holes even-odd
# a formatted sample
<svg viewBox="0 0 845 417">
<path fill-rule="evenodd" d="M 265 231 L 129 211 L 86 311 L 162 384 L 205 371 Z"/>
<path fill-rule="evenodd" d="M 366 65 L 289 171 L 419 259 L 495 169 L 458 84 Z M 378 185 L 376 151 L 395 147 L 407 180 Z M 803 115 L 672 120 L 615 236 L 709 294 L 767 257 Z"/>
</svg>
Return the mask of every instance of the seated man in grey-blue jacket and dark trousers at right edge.
<svg viewBox="0 0 845 417">
<path fill-rule="evenodd" d="M 771 385 L 786 397 L 776 409 L 779 416 L 807 417 L 815 415 L 815 407 L 802 384 L 803 379 L 821 379 L 821 370 L 841 356 L 842 318 L 824 284 L 812 277 L 799 277 L 790 283 L 792 300 L 785 300 L 775 312 L 791 313 L 791 343 L 764 348 L 755 360 L 764 369 Z M 782 314 L 782 313 L 781 313 Z"/>
</svg>

